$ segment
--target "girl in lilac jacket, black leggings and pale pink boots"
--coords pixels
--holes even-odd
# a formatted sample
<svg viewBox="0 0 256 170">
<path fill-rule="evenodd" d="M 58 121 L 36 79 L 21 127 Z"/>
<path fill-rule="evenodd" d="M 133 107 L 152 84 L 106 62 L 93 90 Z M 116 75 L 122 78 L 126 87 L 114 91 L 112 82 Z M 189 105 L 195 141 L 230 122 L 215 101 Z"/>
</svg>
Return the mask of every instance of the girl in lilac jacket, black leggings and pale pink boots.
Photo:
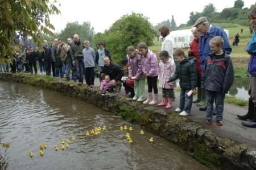
<svg viewBox="0 0 256 170">
<path fill-rule="evenodd" d="M 147 77 L 148 96 L 143 104 L 155 105 L 158 100 L 158 60 L 155 53 L 150 51 L 145 43 L 139 43 L 137 46 L 141 55 L 142 72 Z M 154 89 L 154 99 L 152 97 L 152 89 Z"/>
</svg>

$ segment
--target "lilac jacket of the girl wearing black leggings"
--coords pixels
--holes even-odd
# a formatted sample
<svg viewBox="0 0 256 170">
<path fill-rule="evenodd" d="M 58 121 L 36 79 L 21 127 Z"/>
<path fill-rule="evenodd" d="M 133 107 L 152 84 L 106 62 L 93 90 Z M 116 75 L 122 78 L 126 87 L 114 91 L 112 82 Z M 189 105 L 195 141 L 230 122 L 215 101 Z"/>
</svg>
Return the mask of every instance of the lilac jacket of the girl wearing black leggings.
<svg viewBox="0 0 256 170">
<path fill-rule="evenodd" d="M 150 73 L 150 77 L 158 76 L 158 59 L 155 53 L 148 50 L 146 57 L 141 55 L 143 73 Z"/>
</svg>

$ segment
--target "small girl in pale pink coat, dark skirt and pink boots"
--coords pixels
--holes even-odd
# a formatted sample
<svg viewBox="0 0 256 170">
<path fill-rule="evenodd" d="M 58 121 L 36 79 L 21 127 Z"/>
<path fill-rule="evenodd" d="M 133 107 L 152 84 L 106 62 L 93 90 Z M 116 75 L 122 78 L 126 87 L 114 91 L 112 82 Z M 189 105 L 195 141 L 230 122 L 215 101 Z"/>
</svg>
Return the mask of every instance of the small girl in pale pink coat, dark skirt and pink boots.
<svg viewBox="0 0 256 170">
<path fill-rule="evenodd" d="M 159 63 L 159 87 L 163 90 L 162 102 L 158 106 L 166 106 L 166 109 L 171 109 L 172 98 L 174 97 L 174 88 L 176 87 L 176 81 L 166 82 L 169 77 L 172 77 L 175 73 L 176 65 L 174 60 L 171 59 L 167 51 L 160 52 Z"/>
</svg>

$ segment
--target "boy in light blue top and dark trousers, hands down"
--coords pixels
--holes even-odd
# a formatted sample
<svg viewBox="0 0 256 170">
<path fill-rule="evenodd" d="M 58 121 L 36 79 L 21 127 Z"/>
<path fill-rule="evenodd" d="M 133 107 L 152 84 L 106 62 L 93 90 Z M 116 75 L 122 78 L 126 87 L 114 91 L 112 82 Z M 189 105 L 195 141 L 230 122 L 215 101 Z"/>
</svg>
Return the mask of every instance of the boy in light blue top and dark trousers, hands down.
<svg viewBox="0 0 256 170">
<path fill-rule="evenodd" d="M 95 67 L 95 52 L 93 48 L 90 48 L 90 42 L 84 41 L 84 49 L 82 49 L 82 55 L 84 56 L 84 67 L 85 67 L 85 81 L 90 87 L 94 86 L 94 67 Z"/>
</svg>

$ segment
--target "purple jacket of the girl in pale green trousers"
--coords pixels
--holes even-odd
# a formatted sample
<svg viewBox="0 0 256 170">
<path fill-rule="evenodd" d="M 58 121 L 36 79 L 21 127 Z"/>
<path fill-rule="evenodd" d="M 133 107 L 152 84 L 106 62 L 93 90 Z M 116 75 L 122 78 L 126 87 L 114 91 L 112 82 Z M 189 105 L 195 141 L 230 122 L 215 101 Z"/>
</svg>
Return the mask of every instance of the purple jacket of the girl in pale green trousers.
<svg viewBox="0 0 256 170">
<path fill-rule="evenodd" d="M 142 72 L 141 56 L 136 55 L 134 57 L 127 57 L 128 59 L 128 76 L 136 77 L 136 79 L 141 79 L 146 77 L 146 74 Z"/>
</svg>

